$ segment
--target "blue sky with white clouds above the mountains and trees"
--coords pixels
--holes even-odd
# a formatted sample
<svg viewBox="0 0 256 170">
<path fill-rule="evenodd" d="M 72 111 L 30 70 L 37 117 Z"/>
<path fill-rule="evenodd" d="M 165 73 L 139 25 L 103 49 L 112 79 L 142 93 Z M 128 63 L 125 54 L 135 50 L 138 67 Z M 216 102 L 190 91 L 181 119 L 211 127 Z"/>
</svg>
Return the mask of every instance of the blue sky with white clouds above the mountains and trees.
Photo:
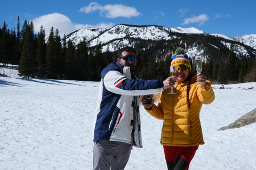
<svg viewBox="0 0 256 170">
<path fill-rule="evenodd" d="M 33 21 L 35 32 L 43 25 L 60 36 L 85 28 L 111 28 L 117 24 L 195 27 L 205 33 L 230 37 L 256 34 L 256 1 L 2 1 L 0 28 L 22 27 Z"/>
</svg>

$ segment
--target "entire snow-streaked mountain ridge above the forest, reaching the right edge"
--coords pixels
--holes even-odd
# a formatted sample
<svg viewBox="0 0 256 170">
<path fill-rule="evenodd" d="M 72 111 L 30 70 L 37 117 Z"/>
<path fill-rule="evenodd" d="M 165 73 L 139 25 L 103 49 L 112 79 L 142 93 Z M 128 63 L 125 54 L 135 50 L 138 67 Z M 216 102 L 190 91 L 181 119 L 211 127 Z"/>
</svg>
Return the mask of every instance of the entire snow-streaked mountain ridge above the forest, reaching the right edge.
<svg viewBox="0 0 256 170">
<path fill-rule="evenodd" d="M 102 51 L 106 51 L 109 49 L 110 52 L 117 50 L 121 46 L 135 45 L 136 41 L 140 40 L 149 40 L 149 41 L 159 41 L 159 40 L 173 40 L 179 39 L 182 35 L 194 35 L 197 34 L 199 36 L 213 36 L 216 38 L 226 39 L 221 41 L 226 48 L 230 48 L 230 41 L 234 41 L 235 47 L 237 49 L 237 54 L 245 54 L 249 55 L 247 49 L 243 47 L 243 44 L 250 46 L 256 49 L 256 35 L 246 35 L 243 37 L 231 38 L 226 35 L 221 34 L 206 34 L 204 31 L 199 30 L 197 28 L 166 28 L 157 25 L 127 25 L 127 24 L 118 24 L 110 29 L 99 29 L 99 28 L 83 28 L 77 30 L 75 32 L 70 33 L 66 39 L 71 39 L 75 45 L 79 43 L 79 41 L 86 38 L 89 47 L 94 47 L 97 44 L 101 43 Z M 133 40 L 131 40 L 133 39 Z M 135 39 L 135 40 L 134 40 Z M 243 43 L 241 45 L 241 43 Z M 214 45 L 212 45 L 214 47 Z M 149 47 L 148 47 L 149 48 Z M 194 48 L 194 47 L 193 47 Z M 196 46 L 195 46 L 196 48 Z M 215 48 L 215 47 L 214 47 Z M 194 53 L 199 53 L 200 50 L 196 49 L 188 49 L 193 50 Z M 201 49 L 202 51 L 202 49 Z M 254 52 L 253 52 L 254 53 Z M 255 51 L 256 54 L 256 51 Z"/>
</svg>

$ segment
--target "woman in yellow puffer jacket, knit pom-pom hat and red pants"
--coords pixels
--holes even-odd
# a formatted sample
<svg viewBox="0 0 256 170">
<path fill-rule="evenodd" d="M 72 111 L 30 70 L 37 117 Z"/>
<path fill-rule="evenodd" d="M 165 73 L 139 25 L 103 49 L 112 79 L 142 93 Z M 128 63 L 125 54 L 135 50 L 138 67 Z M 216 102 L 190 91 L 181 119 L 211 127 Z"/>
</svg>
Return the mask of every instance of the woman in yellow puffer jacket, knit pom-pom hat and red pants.
<svg viewBox="0 0 256 170">
<path fill-rule="evenodd" d="M 198 145 L 204 145 L 199 113 L 203 104 L 211 104 L 215 99 L 210 81 L 202 73 L 191 72 L 188 56 L 183 48 L 177 48 L 172 56 L 172 66 L 177 67 L 171 88 L 161 92 L 158 106 L 142 103 L 146 111 L 164 120 L 160 143 L 168 169 L 188 169 Z M 196 84 L 201 82 L 202 84 Z"/>
</svg>

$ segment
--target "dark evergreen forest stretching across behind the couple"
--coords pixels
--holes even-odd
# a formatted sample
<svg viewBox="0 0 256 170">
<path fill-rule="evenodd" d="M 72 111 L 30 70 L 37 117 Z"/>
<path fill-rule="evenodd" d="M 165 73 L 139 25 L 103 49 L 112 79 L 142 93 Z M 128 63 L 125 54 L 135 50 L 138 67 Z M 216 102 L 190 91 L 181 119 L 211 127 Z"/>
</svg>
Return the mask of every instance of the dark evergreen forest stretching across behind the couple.
<svg viewBox="0 0 256 170">
<path fill-rule="evenodd" d="M 169 36 L 176 38 L 153 41 L 126 37 L 138 49 L 135 70 L 138 78 L 166 79 L 175 49 L 182 47 L 187 51 L 196 47 L 204 50 L 203 73 L 209 80 L 225 84 L 256 80 L 255 53 L 252 53 L 252 48 L 245 47 L 251 52 L 248 57 L 235 53 L 237 44 L 233 44 L 233 41 L 228 42 L 231 44 L 230 49 L 223 46 L 221 42 L 226 39 L 174 32 L 170 32 Z M 33 22 L 25 21 L 20 28 L 18 17 L 17 29 L 11 30 L 4 22 L 0 28 L 0 63 L 3 66 L 19 65 L 19 75 L 23 78 L 99 81 L 101 70 L 109 63 L 116 62 L 117 51 L 110 52 L 107 48 L 106 52 L 102 52 L 100 41 L 97 46 L 88 47 L 84 38 L 74 45 L 66 36 L 61 38 L 58 29 L 53 28 L 47 40 L 45 38 L 43 25 L 35 34 Z M 194 56 L 190 57 L 192 69 L 195 70 Z"/>
</svg>

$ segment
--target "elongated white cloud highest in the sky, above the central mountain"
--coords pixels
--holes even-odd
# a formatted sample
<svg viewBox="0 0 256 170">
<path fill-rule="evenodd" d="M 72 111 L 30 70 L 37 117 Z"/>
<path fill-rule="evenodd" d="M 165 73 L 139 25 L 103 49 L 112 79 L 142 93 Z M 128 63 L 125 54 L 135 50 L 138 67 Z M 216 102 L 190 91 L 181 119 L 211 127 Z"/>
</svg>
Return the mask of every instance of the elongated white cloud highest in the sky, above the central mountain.
<svg viewBox="0 0 256 170">
<path fill-rule="evenodd" d="M 79 12 L 85 13 L 93 13 L 94 11 L 99 11 L 100 15 L 104 15 L 106 18 L 131 18 L 132 16 L 140 15 L 140 13 L 136 10 L 135 7 L 125 6 L 123 4 L 108 4 L 105 6 L 101 6 L 97 2 L 92 2 L 88 6 L 84 6 L 79 10 Z"/>
</svg>

